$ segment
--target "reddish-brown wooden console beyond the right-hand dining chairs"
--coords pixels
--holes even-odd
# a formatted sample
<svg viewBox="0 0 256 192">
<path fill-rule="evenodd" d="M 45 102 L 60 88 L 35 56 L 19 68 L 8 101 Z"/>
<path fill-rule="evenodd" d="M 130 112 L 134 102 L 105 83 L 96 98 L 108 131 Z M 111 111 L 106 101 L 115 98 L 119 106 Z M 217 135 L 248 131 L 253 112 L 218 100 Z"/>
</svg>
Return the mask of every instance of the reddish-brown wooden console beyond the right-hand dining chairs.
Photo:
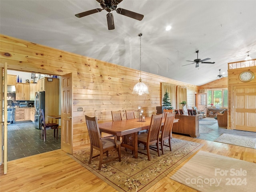
<svg viewBox="0 0 256 192">
<path fill-rule="evenodd" d="M 172 126 L 172 132 L 188 134 L 191 137 L 199 137 L 199 117 L 200 115 L 175 115 L 179 119 Z"/>
</svg>

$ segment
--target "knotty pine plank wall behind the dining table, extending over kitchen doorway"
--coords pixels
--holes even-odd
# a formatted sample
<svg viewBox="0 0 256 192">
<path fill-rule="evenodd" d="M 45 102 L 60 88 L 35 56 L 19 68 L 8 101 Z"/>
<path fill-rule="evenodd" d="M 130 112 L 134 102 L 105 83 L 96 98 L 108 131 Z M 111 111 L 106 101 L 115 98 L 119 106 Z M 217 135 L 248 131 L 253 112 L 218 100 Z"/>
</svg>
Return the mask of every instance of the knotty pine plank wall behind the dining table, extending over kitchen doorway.
<svg viewBox="0 0 256 192">
<path fill-rule="evenodd" d="M 10 70 L 58 76 L 73 73 L 74 151 L 89 142 L 84 115 L 97 116 L 99 122 L 111 121 L 111 110 L 122 110 L 126 118 L 126 109 L 136 109 L 140 105 L 150 116 L 162 103 L 160 82 L 186 86 L 188 98 L 194 97 L 199 89 L 192 84 L 141 72 L 150 94 L 137 96 L 132 94 L 132 89 L 139 81 L 138 70 L 5 35 L 0 35 L 0 44 L 0 63 L 7 62 Z M 77 111 L 78 108 L 83 111 Z"/>
</svg>

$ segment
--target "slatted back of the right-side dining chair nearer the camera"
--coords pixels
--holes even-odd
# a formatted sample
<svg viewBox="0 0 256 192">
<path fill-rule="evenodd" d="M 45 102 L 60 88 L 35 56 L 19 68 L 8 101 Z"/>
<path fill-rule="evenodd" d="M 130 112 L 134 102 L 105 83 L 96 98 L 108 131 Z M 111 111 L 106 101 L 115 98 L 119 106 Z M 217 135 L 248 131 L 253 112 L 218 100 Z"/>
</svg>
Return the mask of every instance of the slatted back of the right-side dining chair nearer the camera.
<svg viewBox="0 0 256 192">
<path fill-rule="evenodd" d="M 147 142 L 153 142 L 153 141 L 159 140 L 159 133 L 162 125 L 162 117 L 163 117 L 162 114 L 151 116 Z"/>
</svg>

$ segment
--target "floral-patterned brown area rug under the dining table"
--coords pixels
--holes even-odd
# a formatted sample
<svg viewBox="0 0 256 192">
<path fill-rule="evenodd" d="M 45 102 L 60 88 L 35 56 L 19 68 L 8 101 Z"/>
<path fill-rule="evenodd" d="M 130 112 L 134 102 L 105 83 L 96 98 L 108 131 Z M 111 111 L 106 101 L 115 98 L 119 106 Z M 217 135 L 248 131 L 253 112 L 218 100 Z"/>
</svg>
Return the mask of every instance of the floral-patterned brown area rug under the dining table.
<svg viewBox="0 0 256 192">
<path fill-rule="evenodd" d="M 98 170 L 98 158 L 92 159 L 92 163 L 88 164 L 90 148 L 74 152 L 73 156 L 70 156 L 120 192 L 144 192 L 203 146 L 200 143 L 175 138 L 171 144 L 172 152 L 168 147 L 164 147 L 164 155 L 160 151 L 160 157 L 157 152 L 150 150 L 151 161 L 140 153 L 138 159 L 135 159 L 130 150 L 125 151 L 122 148 L 121 162 L 113 160 L 103 164 L 101 170 Z M 140 144 L 138 150 L 144 150 L 144 145 Z M 117 156 L 116 150 L 109 151 L 108 158 Z"/>
</svg>

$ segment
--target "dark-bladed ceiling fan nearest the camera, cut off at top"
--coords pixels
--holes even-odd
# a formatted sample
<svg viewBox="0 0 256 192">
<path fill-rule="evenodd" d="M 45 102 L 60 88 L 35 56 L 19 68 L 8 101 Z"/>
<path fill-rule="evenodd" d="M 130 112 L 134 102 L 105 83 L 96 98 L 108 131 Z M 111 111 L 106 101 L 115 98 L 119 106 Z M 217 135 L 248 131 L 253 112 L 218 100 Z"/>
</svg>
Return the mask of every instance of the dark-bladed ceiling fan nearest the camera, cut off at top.
<svg viewBox="0 0 256 192">
<path fill-rule="evenodd" d="M 101 8 L 85 11 L 82 13 L 75 14 L 76 17 L 81 18 L 90 14 L 94 14 L 97 12 L 101 12 L 102 10 L 106 10 L 108 12 L 107 14 L 107 22 L 108 22 L 108 30 L 113 30 L 115 28 L 114 26 L 114 17 L 113 14 L 110 13 L 113 10 L 115 10 L 118 14 L 128 16 L 130 18 L 134 18 L 136 20 L 141 21 L 144 17 L 144 15 L 135 13 L 123 8 L 117 8 L 117 5 L 122 2 L 122 0 L 96 0 L 100 3 Z"/>
</svg>

